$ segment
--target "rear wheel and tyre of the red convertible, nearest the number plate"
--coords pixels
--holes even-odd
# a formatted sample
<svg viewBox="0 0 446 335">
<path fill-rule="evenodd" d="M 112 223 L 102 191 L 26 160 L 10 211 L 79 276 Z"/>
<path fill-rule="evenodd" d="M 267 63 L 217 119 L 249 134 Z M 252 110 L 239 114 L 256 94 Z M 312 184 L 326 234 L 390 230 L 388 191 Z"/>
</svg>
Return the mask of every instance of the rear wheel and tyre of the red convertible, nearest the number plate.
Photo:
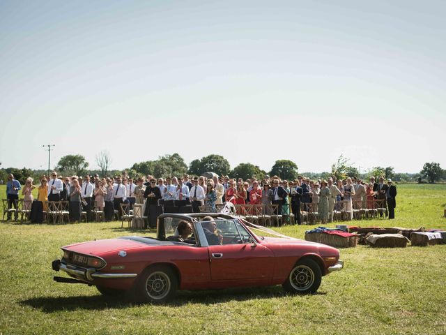
<svg viewBox="0 0 446 335">
<path fill-rule="evenodd" d="M 178 288 L 178 278 L 168 265 L 154 265 L 145 269 L 136 286 L 136 297 L 141 302 L 163 304 L 171 300 Z"/>
</svg>

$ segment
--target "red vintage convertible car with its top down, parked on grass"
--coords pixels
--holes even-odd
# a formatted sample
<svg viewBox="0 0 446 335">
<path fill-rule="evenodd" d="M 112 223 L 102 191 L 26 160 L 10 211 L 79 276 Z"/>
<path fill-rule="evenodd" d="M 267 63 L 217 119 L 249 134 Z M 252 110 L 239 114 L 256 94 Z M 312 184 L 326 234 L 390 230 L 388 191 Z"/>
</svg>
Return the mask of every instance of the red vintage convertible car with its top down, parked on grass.
<svg viewBox="0 0 446 335">
<path fill-rule="evenodd" d="M 63 257 L 52 268 L 72 278 L 54 281 L 95 285 L 103 295 L 128 292 L 155 304 L 176 290 L 282 285 L 291 294 L 314 293 L 322 276 L 344 266 L 337 248 L 229 214 L 162 214 L 156 238 L 119 237 L 61 249 Z"/>
</svg>

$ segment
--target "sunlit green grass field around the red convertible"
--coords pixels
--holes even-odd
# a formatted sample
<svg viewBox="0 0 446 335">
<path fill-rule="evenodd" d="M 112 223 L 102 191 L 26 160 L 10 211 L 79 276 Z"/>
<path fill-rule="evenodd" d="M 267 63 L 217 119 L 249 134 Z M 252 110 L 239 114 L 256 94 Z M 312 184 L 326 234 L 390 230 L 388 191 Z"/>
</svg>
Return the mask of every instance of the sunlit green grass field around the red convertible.
<svg viewBox="0 0 446 335">
<path fill-rule="evenodd" d="M 0 187 L 4 195 L 4 186 Z M 394 221 L 361 225 L 444 228 L 445 185 L 398 186 Z M 309 226 L 277 228 L 303 238 Z M 102 297 L 55 283 L 51 262 L 76 241 L 146 234 L 121 223 L 0 223 L 2 334 L 446 334 L 446 245 L 342 249 L 345 267 L 316 295 L 272 288 L 180 292 L 166 306 Z"/>
</svg>

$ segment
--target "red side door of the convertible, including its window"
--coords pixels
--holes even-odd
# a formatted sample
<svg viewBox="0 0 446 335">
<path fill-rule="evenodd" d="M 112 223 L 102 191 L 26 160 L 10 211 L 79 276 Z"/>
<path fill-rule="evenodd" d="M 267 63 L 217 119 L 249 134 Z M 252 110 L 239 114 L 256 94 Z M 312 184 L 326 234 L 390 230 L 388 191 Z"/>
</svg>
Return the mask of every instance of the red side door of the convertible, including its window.
<svg viewBox="0 0 446 335">
<path fill-rule="evenodd" d="M 238 220 L 217 221 L 222 244 L 208 246 L 212 281 L 250 281 L 268 284 L 274 270 L 274 255 Z"/>
</svg>

